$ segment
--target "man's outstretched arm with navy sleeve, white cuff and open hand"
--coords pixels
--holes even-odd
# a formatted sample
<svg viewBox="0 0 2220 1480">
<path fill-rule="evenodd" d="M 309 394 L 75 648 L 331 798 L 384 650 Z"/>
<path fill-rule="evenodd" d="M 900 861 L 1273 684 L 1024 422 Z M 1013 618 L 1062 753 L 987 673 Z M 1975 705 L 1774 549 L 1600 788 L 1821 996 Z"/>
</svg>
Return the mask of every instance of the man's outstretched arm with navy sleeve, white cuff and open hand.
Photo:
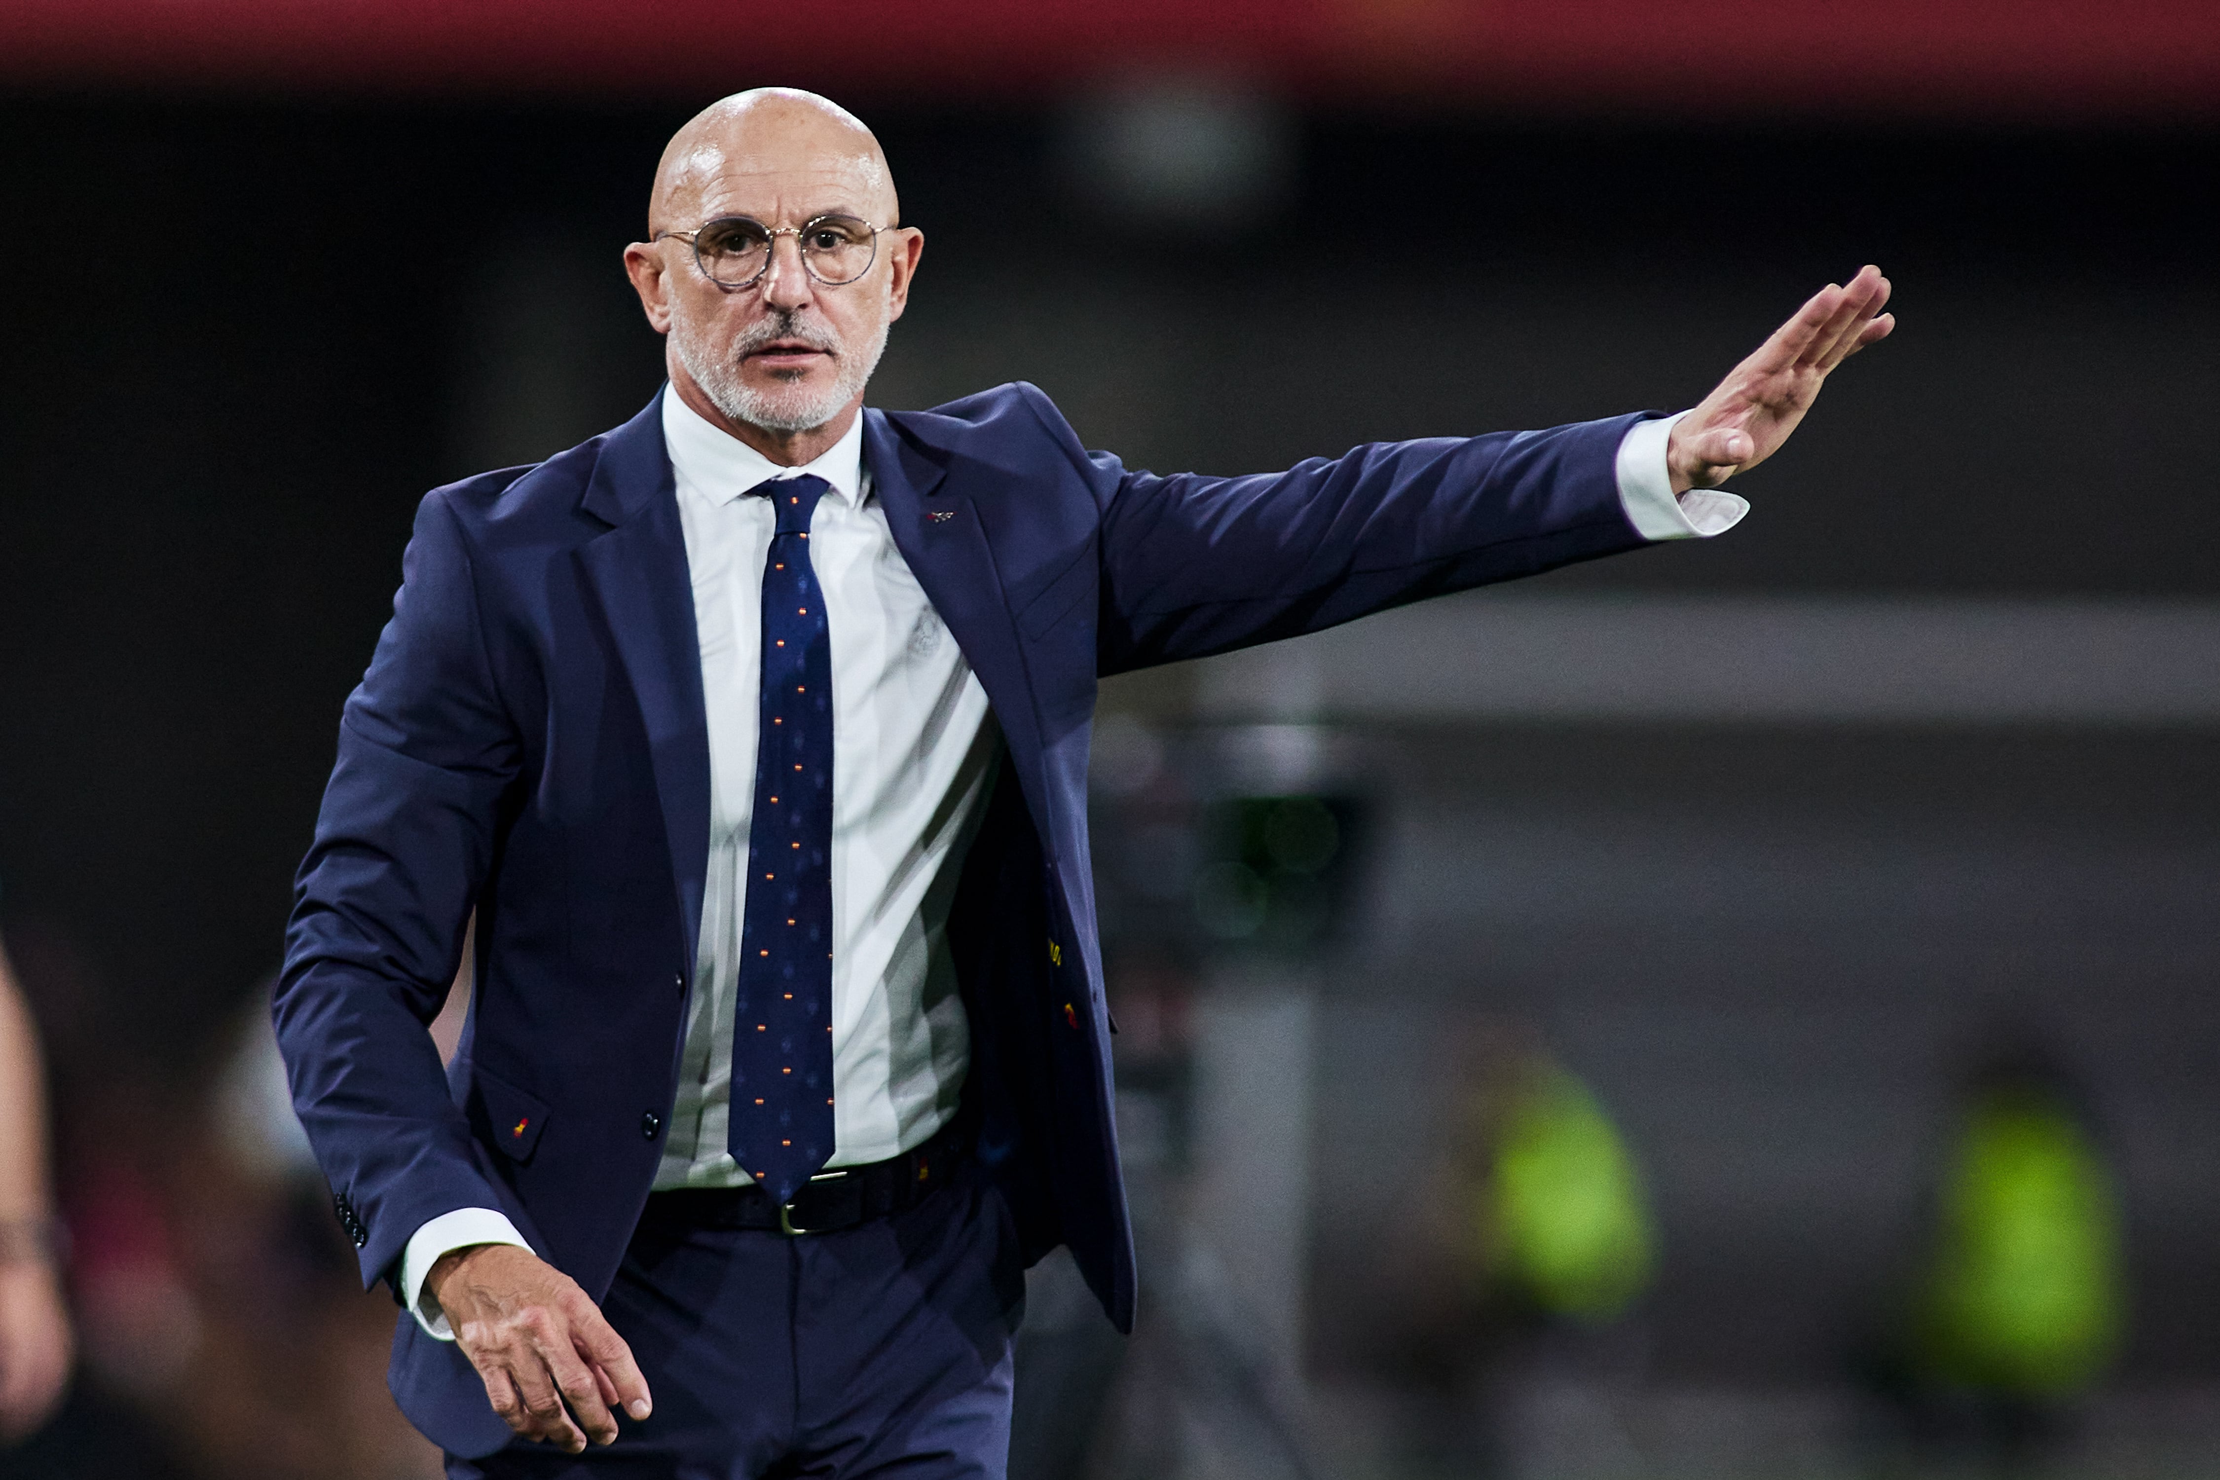
<svg viewBox="0 0 2220 1480">
<path fill-rule="evenodd" d="M 1372 444 L 1259 477 L 1157 477 L 1094 455 L 1101 672 L 1314 632 L 1669 537 L 1672 499 L 1772 457 L 1827 375 L 1896 326 L 1887 300 L 1874 266 L 1823 288 L 1669 433 L 1612 417 Z M 1632 497 L 1621 453 L 1649 459 L 1663 515 L 1636 508 L 1649 499 Z"/>
</svg>

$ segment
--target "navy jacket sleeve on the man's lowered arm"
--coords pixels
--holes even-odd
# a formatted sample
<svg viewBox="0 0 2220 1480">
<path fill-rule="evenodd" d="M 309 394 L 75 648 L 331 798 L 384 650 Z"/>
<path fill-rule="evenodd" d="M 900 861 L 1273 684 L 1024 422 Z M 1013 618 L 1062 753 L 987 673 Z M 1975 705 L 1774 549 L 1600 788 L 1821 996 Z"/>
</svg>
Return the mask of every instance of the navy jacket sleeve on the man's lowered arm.
<svg viewBox="0 0 2220 1480">
<path fill-rule="evenodd" d="M 346 701 L 300 865 L 273 1016 L 293 1107 L 355 1236 L 364 1285 L 457 1207 L 506 1207 L 426 1032 L 517 777 L 464 528 L 417 508 L 393 621 Z"/>
</svg>

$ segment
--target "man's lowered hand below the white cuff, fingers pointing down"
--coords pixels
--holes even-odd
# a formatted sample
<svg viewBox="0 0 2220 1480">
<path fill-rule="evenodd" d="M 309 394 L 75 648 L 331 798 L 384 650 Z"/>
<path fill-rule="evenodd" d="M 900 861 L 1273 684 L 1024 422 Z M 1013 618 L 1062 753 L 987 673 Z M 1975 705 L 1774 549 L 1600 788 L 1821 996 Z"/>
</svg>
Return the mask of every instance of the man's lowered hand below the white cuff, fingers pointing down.
<svg viewBox="0 0 2220 1480">
<path fill-rule="evenodd" d="M 648 1416 L 648 1382 L 633 1349 L 577 1280 L 531 1249 L 453 1249 L 433 1263 L 424 1287 L 484 1378 L 493 1411 L 524 1438 L 579 1453 L 588 1438 L 617 1440 L 613 1409 Z"/>
</svg>

